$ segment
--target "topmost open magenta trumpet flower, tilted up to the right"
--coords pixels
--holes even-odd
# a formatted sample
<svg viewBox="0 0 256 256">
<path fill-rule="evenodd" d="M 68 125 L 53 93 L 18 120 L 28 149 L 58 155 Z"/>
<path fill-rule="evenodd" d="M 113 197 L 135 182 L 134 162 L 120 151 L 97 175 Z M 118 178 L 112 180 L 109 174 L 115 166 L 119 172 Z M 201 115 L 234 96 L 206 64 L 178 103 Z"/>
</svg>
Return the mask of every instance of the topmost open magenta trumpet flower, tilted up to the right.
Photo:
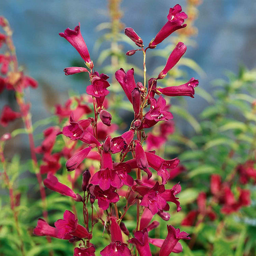
<svg viewBox="0 0 256 256">
<path fill-rule="evenodd" d="M 155 48 L 157 44 L 160 44 L 165 38 L 167 38 L 177 29 L 186 27 L 186 24 L 183 24 L 183 22 L 188 16 L 185 12 L 181 11 L 182 9 L 179 4 L 176 4 L 173 8 L 170 8 L 169 15 L 167 16 L 167 23 L 160 29 L 156 37 L 149 43 L 149 48 Z"/>
</svg>

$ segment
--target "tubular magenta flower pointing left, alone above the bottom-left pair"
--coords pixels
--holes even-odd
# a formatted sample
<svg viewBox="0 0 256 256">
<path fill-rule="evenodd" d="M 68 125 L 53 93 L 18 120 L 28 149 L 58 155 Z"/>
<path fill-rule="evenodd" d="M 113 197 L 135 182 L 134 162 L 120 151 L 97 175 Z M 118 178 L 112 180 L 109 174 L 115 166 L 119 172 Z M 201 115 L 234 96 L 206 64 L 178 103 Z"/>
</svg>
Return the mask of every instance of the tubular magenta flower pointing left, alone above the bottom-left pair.
<svg viewBox="0 0 256 256">
<path fill-rule="evenodd" d="M 46 186 L 48 189 L 51 189 L 55 192 L 60 193 L 61 195 L 67 195 L 72 197 L 75 201 L 83 201 L 81 195 L 76 194 L 72 189 L 70 189 L 68 186 L 60 183 L 58 181 L 58 178 L 49 173 L 47 175 L 47 178 L 44 180 L 44 186 Z"/>
</svg>

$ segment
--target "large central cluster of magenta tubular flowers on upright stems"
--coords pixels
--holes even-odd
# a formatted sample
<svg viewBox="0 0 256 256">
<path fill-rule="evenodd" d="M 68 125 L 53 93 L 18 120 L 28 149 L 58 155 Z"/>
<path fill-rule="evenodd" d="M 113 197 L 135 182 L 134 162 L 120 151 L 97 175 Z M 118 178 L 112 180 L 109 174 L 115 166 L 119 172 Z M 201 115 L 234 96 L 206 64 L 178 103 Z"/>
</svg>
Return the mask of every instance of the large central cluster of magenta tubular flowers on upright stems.
<svg viewBox="0 0 256 256">
<path fill-rule="evenodd" d="M 131 38 L 140 49 L 128 51 L 127 55 L 133 55 L 137 51 L 145 53 L 147 49 L 154 49 L 157 44 L 160 44 L 172 32 L 186 26 L 183 24 L 187 15 L 181 12 L 179 5 L 170 8 L 169 15 L 167 16 L 167 23 L 157 33 L 156 37 L 149 43 L 148 47 L 144 49 L 143 40 L 134 32 L 132 28 L 125 29 L 125 35 Z M 75 111 L 70 108 L 70 100 L 66 103 L 65 107 L 57 106 L 56 114 L 63 119 L 70 117 L 69 125 L 66 125 L 59 130 L 58 128 L 51 127 L 44 133 L 45 139 L 40 147 L 37 148 L 38 153 L 44 154 L 44 165 L 41 166 L 41 173 L 47 173 L 47 178 L 44 180 L 44 185 L 62 195 L 70 196 L 75 201 L 83 203 L 84 226 L 78 224 L 78 219 L 73 212 L 66 210 L 64 218 L 55 222 L 55 227 L 50 226 L 47 221 L 43 219 L 38 220 L 38 225 L 34 230 L 34 234 L 38 236 L 52 236 L 59 239 L 67 239 L 70 242 L 82 241 L 74 250 L 74 256 L 93 256 L 95 255 L 96 248 L 90 243 L 93 236 L 93 225 L 96 223 L 96 218 L 101 219 L 102 212 L 106 210 L 105 229 L 111 234 L 111 242 L 105 247 L 100 254 L 102 256 L 113 255 L 132 255 L 132 251 L 128 248 L 127 242 L 122 237 L 122 232 L 129 234 L 128 229 L 122 222 L 125 213 L 128 209 L 137 204 L 137 227 L 133 237 L 128 240 L 128 243 L 134 244 L 138 253 L 143 255 L 151 255 L 149 243 L 160 247 L 160 256 L 168 256 L 171 252 L 182 251 L 181 244 L 178 242 L 180 239 L 190 239 L 189 234 L 180 232 L 171 225 L 167 225 L 168 235 L 166 239 L 153 239 L 148 237 L 148 232 L 159 225 L 157 221 L 151 222 L 155 214 L 158 214 L 163 220 L 168 221 L 170 218 L 169 204 L 173 202 L 176 204 L 177 212 L 180 211 L 180 203 L 176 195 L 181 191 L 180 184 L 176 184 L 172 189 L 166 189 L 165 184 L 167 181 L 174 177 L 169 169 L 175 169 L 179 160 L 177 158 L 172 160 L 165 160 L 155 154 L 155 151 L 144 151 L 143 142 L 147 139 L 144 129 L 151 128 L 160 121 L 165 121 L 166 124 L 161 125 L 163 131 L 164 143 L 167 140 L 167 135 L 172 133 L 173 126 L 170 120 L 173 118 L 172 113 L 169 112 L 169 105 L 166 105 L 166 96 L 190 96 L 194 97 L 194 87 L 198 85 L 198 80 L 192 78 L 186 84 L 172 87 L 157 87 L 157 80 L 163 79 L 169 70 L 177 64 L 183 54 L 186 52 L 186 46 L 179 42 L 175 49 L 170 54 L 164 69 L 160 72 L 157 78 L 148 80 L 148 86 L 145 84 L 145 61 L 144 61 L 144 84 L 135 82 L 134 70 L 125 72 L 122 68 L 115 73 L 116 80 L 121 85 L 128 100 L 131 102 L 134 109 L 134 120 L 131 122 L 131 127 L 128 131 L 124 132 L 121 136 L 113 137 L 111 131 L 116 130 L 116 125 L 111 125 L 112 116 L 106 108 L 108 102 L 105 97 L 108 95 L 108 76 L 99 74 L 97 71 L 93 72 L 93 61 L 84 39 L 80 32 L 79 26 L 74 30 L 67 28 L 64 33 L 60 33 L 70 44 L 75 47 L 79 52 L 88 70 L 85 67 L 67 67 L 64 69 L 66 75 L 87 72 L 90 77 L 91 84 L 87 86 L 87 95 L 80 99 L 76 98 L 77 107 Z M 144 58 L 145 60 L 145 58 Z M 159 95 L 158 98 L 155 96 Z M 93 103 L 94 117 L 87 119 L 80 119 L 83 114 L 92 112 L 87 105 L 83 104 L 83 100 Z M 150 105 L 150 109 L 143 113 L 144 108 Z M 101 120 L 98 121 L 98 118 Z M 64 135 L 70 138 L 70 146 L 64 148 L 61 153 L 52 154 L 57 135 Z M 134 135 L 137 139 L 134 139 Z M 152 136 L 152 135 L 151 135 Z M 82 147 L 76 148 L 78 141 L 84 143 Z M 103 142 L 104 141 L 104 142 Z M 151 138 L 151 142 L 153 139 Z M 155 143 L 153 143 L 155 144 Z M 147 143 L 148 150 L 153 148 L 152 143 Z M 159 145 L 157 146 L 159 147 Z M 113 161 L 113 155 L 119 154 L 119 162 Z M 99 161 L 99 170 L 86 170 L 82 173 L 81 189 L 84 196 L 75 193 L 73 188 L 64 185 L 58 181 L 54 175 L 58 171 L 60 165 L 58 163 L 59 157 L 66 157 L 67 171 L 76 170 L 76 175 L 72 179 L 72 184 L 81 175 L 83 168 L 82 162 L 85 158 L 91 158 Z M 132 158 L 131 158 L 132 157 Z M 130 158 L 127 160 L 127 158 Z M 116 156 L 114 156 L 116 159 Z M 157 172 L 161 178 L 161 183 L 154 178 L 157 175 L 152 174 L 151 167 Z M 134 171 L 133 171 L 134 170 Z M 145 172 L 145 175 L 141 171 Z M 134 172 L 134 174 L 133 174 Z M 175 171 L 178 173 L 180 171 Z M 131 174 L 131 175 L 130 175 Z M 136 179 L 134 180 L 134 176 Z M 127 203 L 119 215 L 116 203 L 119 201 L 119 196 L 124 196 Z M 97 217 L 92 218 L 90 224 L 91 231 L 89 231 L 89 214 L 87 203 L 91 205 L 97 200 L 99 212 Z M 142 215 L 141 215 L 141 212 Z M 103 222 L 104 224 L 104 222 Z"/>
</svg>

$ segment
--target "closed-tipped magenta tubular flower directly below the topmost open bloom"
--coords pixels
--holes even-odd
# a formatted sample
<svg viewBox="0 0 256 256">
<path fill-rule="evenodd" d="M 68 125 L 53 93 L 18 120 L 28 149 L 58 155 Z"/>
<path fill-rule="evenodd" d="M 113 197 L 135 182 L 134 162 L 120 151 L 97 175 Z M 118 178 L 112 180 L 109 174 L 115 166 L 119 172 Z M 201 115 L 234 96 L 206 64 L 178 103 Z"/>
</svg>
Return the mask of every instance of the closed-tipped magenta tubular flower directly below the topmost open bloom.
<svg viewBox="0 0 256 256">
<path fill-rule="evenodd" d="M 177 62 L 180 60 L 185 52 L 186 45 L 182 42 L 179 42 L 171 52 L 169 58 L 166 61 L 164 69 L 160 72 L 157 79 L 165 78 L 166 74 L 177 64 Z"/>
</svg>

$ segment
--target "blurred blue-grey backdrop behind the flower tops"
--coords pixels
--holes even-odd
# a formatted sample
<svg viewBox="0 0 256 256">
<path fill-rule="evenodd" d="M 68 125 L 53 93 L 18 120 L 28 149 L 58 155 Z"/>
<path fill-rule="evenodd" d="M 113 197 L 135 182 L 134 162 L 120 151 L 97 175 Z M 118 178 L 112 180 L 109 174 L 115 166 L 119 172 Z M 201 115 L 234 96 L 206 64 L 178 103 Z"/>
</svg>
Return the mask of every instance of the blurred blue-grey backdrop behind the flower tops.
<svg viewBox="0 0 256 256">
<path fill-rule="evenodd" d="M 185 0 L 129 0 L 120 1 L 123 27 L 132 27 L 143 38 L 144 44 L 157 34 L 166 23 L 169 8 L 179 3 L 186 6 Z M 89 49 L 91 58 L 99 72 L 97 64 L 99 53 L 109 47 L 109 42 L 96 47 L 96 40 L 103 34 L 99 24 L 109 22 L 108 1 L 94 0 L 8 0 L 0 1 L 0 14 L 5 16 L 13 29 L 13 40 L 20 65 L 25 73 L 39 81 L 37 90 L 30 90 L 33 122 L 51 114 L 55 104 L 63 104 L 68 98 L 68 91 L 85 92 L 88 84 L 74 76 L 65 76 L 63 69 L 74 63 L 83 65 L 76 50 L 58 33 L 67 27 L 73 29 L 81 23 L 81 33 Z M 192 76 L 200 80 L 199 86 L 209 93 L 211 81 L 225 78 L 225 71 L 236 72 L 239 65 L 247 68 L 256 67 L 256 1 L 255 0 L 204 0 L 198 6 L 198 18 L 195 20 L 197 35 L 188 45 L 185 57 L 194 60 L 204 70 L 201 75 L 186 68 L 188 79 Z M 175 33 L 174 33 L 175 34 Z M 166 47 L 163 41 L 157 49 Z M 122 51 L 131 49 L 129 44 L 122 44 Z M 96 49 L 97 48 L 97 49 Z M 139 52 L 140 53 L 140 52 Z M 157 65 L 164 65 L 166 60 L 151 56 L 148 51 L 147 71 L 152 74 Z M 140 54 L 127 57 L 131 67 L 135 64 L 142 68 Z M 78 61 L 78 62 L 77 62 Z M 103 64 L 109 64 L 108 59 Z M 109 76 L 113 74 L 108 73 Z M 85 77 L 85 76 L 84 76 Z M 136 81 L 142 80 L 137 76 Z M 177 84 L 178 85 L 178 84 Z M 0 95 L 0 108 L 11 104 L 4 92 Z M 197 116 L 207 105 L 201 97 L 188 99 L 190 112 Z M 2 128 L 1 128 L 2 129 Z M 7 128 L 8 129 L 8 128 Z"/>
</svg>

